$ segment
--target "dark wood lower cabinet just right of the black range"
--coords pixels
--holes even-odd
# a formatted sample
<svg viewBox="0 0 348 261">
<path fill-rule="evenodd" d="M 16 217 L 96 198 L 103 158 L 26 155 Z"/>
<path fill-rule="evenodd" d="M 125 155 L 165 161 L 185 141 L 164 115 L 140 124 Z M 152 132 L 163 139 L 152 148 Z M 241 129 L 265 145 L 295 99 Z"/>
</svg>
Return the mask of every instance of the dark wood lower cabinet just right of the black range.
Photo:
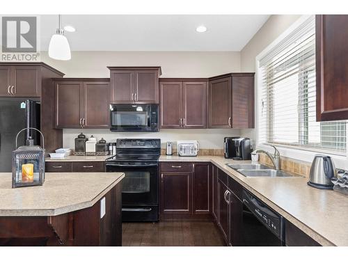
<svg viewBox="0 0 348 261">
<path fill-rule="evenodd" d="M 160 191 L 160 220 L 212 220 L 209 163 L 161 163 Z"/>
</svg>

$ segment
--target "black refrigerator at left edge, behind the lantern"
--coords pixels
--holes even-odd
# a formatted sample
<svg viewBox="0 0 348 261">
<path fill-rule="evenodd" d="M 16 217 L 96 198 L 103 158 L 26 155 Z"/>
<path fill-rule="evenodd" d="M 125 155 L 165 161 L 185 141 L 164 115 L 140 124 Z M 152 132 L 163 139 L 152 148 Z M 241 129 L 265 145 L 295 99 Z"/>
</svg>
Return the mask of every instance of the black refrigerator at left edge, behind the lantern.
<svg viewBox="0 0 348 261">
<path fill-rule="evenodd" d="M 40 103 L 28 98 L 0 98 L 0 173 L 12 171 L 16 136 L 26 127 L 40 129 Z M 25 145 L 29 136 L 40 145 L 40 134 L 27 130 L 19 134 L 18 146 Z"/>
</svg>

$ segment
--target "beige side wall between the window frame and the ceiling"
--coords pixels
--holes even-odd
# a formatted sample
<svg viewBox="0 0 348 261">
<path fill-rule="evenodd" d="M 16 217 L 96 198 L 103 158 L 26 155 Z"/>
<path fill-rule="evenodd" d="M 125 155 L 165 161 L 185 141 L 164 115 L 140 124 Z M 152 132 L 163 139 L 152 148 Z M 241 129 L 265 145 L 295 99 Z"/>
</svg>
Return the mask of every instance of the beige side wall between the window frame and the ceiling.
<svg viewBox="0 0 348 261">
<path fill-rule="evenodd" d="M 241 51 L 241 71 L 255 72 L 255 58 L 301 15 L 271 15 Z M 256 115 L 256 113 L 255 113 Z M 255 140 L 254 129 L 243 129 L 242 136 Z"/>
</svg>

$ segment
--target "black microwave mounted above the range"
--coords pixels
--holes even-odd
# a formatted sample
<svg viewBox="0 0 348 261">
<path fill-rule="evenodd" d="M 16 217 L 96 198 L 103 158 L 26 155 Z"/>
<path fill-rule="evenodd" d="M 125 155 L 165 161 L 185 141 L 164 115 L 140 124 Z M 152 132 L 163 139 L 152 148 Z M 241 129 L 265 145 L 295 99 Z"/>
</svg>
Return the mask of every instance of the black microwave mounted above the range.
<svg viewBox="0 0 348 261">
<path fill-rule="evenodd" d="M 110 104 L 111 132 L 158 132 L 158 104 Z"/>
</svg>

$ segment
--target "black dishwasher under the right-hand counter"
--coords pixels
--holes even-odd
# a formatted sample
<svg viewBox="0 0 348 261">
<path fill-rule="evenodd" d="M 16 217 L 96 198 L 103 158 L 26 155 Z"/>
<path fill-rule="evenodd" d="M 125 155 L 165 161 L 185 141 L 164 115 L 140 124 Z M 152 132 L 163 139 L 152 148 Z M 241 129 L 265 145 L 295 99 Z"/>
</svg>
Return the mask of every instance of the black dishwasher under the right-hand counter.
<svg viewBox="0 0 348 261">
<path fill-rule="evenodd" d="M 250 192 L 242 191 L 242 246 L 285 246 L 285 221 Z"/>
</svg>

